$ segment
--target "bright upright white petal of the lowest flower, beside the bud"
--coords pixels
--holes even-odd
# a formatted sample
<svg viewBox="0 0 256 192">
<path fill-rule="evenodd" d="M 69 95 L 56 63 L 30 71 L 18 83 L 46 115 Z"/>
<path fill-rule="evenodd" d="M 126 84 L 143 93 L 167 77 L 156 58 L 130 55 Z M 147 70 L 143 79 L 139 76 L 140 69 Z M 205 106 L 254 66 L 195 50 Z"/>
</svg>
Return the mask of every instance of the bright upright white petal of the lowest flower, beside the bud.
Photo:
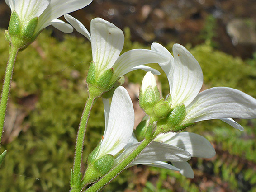
<svg viewBox="0 0 256 192">
<path fill-rule="evenodd" d="M 112 98 L 107 129 L 97 156 L 116 155 L 130 140 L 133 126 L 134 110 L 131 98 L 127 90 L 119 86 Z"/>
</svg>

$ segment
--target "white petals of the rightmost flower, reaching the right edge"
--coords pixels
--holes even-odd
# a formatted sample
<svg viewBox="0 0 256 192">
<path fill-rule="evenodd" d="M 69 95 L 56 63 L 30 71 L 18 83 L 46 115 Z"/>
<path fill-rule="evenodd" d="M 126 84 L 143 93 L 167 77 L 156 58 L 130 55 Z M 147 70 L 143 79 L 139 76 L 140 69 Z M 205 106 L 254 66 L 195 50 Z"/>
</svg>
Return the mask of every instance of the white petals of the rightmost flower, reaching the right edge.
<svg viewBox="0 0 256 192">
<path fill-rule="evenodd" d="M 202 69 L 185 47 L 174 44 L 174 57 L 158 43 L 153 43 L 151 48 L 170 58 L 169 62 L 160 62 L 159 65 L 169 81 L 171 108 L 185 105 L 186 116 L 182 124 L 221 119 L 243 130 L 232 118 L 256 118 L 256 99 L 237 89 L 214 87 L 199 93 L 203 85 Z"/>
</svg>

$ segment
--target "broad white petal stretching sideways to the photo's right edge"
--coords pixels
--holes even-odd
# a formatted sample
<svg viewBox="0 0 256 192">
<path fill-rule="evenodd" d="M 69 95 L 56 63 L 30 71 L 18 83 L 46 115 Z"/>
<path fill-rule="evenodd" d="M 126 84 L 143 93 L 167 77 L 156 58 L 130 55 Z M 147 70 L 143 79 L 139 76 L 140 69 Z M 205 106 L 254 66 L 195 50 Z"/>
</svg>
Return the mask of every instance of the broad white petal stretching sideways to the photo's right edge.
<svg viewBox="0 0 256 192">
<path fill-rule="evenodd" d="M 184 123 L 209 119 L 256 118 L 256 100 L 228 87 L 213 87 L 202 91 L 186 108 Z"/>
</svg>

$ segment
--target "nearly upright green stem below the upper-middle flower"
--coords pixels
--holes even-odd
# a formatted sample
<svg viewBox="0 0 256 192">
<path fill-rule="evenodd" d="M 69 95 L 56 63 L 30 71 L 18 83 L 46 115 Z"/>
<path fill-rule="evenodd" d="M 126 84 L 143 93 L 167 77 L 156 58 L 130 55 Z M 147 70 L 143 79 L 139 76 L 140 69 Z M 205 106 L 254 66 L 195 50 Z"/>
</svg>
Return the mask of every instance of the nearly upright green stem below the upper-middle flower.
<svg viewBox="0 0 256 192">
<path fill-rule="evenodd" d="M 76 183 L 74 185 L 75 187 L 78 187 L 81 182 L 81 162 L 82 162 L 82 154 L 83 154 L 83 147 L 84 147 L 85 131 L 86 131 L 88 118 L 90 116 L 90 111 L 93 106 L 94 100 L 95 100 L 95 97 L 90 97 L 90 94 L 89 94 L 89 98 L 86 102 L 85 109 L 81 117 L 78 133 L 76 137 L 74 170 L 73 170 L 73 178 L 71 178 L 73 180 L 73 182 L 71 183 Z"/>
</svg>

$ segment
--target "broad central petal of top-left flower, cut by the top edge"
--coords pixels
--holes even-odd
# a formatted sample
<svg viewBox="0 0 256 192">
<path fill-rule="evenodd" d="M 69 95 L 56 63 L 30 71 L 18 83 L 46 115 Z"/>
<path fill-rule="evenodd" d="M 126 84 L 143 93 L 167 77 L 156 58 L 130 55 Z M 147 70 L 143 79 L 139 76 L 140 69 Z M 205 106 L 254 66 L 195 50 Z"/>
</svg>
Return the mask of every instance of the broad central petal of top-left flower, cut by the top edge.
<svg viewBox="0 0 256 192">
<path fill-rule="evenodd" d="M 28 22 L 35 17 L 39 17 L 47 9 L 50 0 L 16 0 L 15 11 L 21 21 Z"/>
</svg>

